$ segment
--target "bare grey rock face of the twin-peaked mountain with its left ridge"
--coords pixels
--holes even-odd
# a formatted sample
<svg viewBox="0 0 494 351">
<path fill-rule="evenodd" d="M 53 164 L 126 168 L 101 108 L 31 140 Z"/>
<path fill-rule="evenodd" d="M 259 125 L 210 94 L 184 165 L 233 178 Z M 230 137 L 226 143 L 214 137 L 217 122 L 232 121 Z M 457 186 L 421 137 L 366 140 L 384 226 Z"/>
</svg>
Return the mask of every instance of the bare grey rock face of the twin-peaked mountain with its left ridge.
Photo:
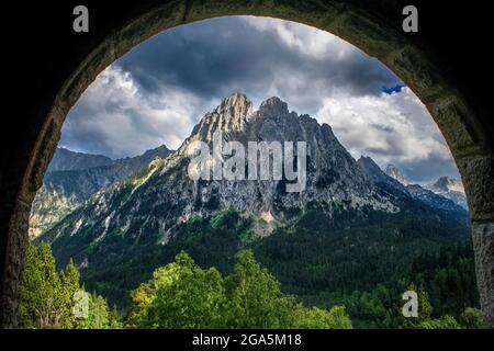
<svg viewBox="0 0 494 351">
<path fill-rule="evenodd" d="M 212 149 L 215 132 L 222 133 L 224 143 L 235 140 L 246 149 L 249 141 L 306 141 L 305 190 L 287 192 L 284 179 L 192 180 L 188 177 L 189 147 L 203 141 Z M 44 239 L 90 233 L 92 239 L 101 240 L 108 233 L 121 233 L 136 238 L 159 234 L 159 238 L 145 240 L 166 241 L 175 225 L 194 215 L 234 208 L 256 216 L 269 212 L 270 218 L 289 222 L 313 201 L 327 204 L 329 212 L 332 206 L 397 210 L 392 199 L 375 190 L 327 124 L 290 112 L 278 98 L 266 100 L 255 111 L 244 94 L 235 93 L 206 113 L 176 152 L 94 194 Z"/>
</svg>

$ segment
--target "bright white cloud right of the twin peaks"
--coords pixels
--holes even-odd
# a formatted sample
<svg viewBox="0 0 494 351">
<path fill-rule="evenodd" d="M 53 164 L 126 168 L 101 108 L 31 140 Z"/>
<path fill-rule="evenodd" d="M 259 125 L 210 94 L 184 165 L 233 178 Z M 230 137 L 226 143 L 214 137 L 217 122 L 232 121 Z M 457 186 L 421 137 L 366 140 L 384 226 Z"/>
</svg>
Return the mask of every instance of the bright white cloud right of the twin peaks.
<svg viewBox="0 0 494 351">
<path fill-rule="evenodd" d="M 317 120 L 333 127 L 355 158 L 363 154 L 381 166 L 415 165 L 417 169 L 420 162 L 451 161 L 439 128 L 408 88 L 392 95 L 327 98 Z"/>
</svg>

